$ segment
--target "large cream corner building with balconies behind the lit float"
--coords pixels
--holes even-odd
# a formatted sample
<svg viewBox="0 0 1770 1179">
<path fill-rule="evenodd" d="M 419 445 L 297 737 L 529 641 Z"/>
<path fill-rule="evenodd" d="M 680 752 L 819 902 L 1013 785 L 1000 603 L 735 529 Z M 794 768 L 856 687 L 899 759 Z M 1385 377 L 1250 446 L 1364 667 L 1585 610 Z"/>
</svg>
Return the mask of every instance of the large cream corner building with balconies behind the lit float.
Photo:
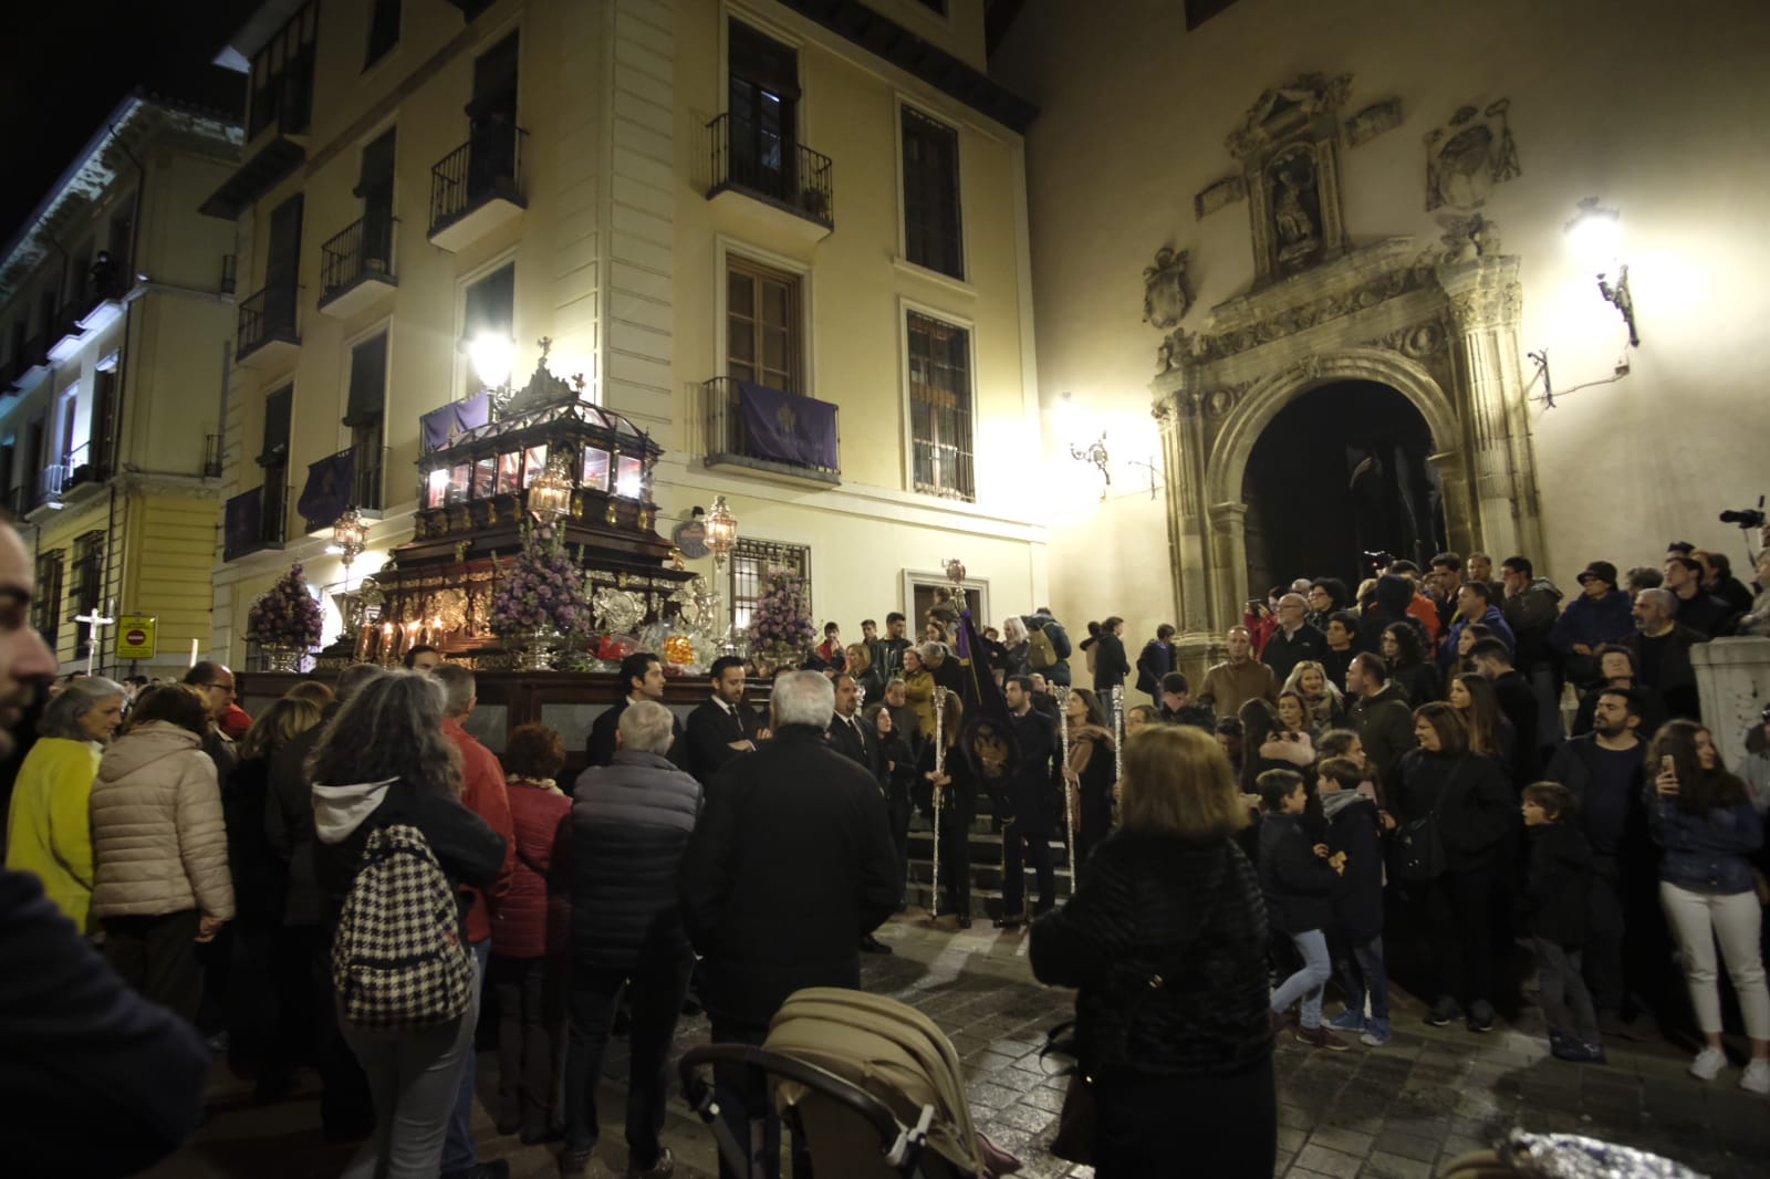
<svg viewBox="0 0 1770 1179">
<path fill-rule="evenodd" d="M 342 506 L 373 520 L 354 577 L 407 540 L 419 418 L 520 386 L 542 340 L 664 446 L 658 531 L 726 497 L 740 623 L 770 563 L 850 627 L 947 558 L 986 614 L 1043 593 L 1034 112 L 984 74 L 981 2 L 273 2 L 223 58 L 250 99 L 202 202 L 242 292 L 219 651 L 292 559 L 345 577 Z"/>
</svg>

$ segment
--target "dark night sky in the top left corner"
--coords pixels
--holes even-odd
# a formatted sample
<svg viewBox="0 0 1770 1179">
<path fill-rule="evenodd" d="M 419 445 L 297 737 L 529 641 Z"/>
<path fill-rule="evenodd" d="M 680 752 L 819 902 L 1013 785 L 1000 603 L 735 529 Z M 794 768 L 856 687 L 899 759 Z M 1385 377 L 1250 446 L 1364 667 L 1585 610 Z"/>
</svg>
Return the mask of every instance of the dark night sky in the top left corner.
<svg viewBox="0 0 1770 1179">
<path fill-rule="evenodd" d="M 177 94 L 253 0 L 23 0 L 0 39 L 0 243 L 136 85 Z"/>
</svg>

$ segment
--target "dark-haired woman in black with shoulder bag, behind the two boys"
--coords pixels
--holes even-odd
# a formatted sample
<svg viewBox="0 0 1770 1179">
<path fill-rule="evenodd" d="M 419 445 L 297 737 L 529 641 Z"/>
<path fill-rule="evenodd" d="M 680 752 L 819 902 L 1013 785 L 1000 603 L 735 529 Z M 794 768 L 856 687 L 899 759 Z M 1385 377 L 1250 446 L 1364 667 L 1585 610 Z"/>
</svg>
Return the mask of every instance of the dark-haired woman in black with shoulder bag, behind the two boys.
<svg viewBox="0 0 1770 1179">
<path fill-rule="evenodd" d="M 1494 1027 L 1494 889 L 1501 846 L 1519 825 L 1517 795 L 1504 767 L 1469 749 L 1469 731 L 1443 701 L 1414 710 L 1414 740 L 1384 784 L 1398 837 L 1428 820 L 1444 850 L 1444 871 L 1405 882 L 1412 928 L 1432 961 L 1437 1000 L 1427 1023 L 1444 1027 L 1458 1014 L 1471 1032 Z M 1418 830 L 1418 828 L 1414 828 Z"/>
</svg>

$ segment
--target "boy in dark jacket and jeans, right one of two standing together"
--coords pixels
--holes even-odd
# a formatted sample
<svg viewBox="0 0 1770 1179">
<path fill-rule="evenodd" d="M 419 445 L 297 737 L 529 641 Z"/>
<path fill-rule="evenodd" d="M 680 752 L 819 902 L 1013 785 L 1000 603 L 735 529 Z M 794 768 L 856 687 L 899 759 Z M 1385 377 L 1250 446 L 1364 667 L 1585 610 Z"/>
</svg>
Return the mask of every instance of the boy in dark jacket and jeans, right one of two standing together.
<svg viewBox="0 0 1770 1179">
<path fill-rule="evenodd" d="M 1389 975 L 1382 968 L 1382 814 L 1368 784 L 1370 772 L 1358 761 L 1326 758 L 1315 774 L 1328 818 L 1328 850 L 1345 855 L 1345 875 L 1333 894 L 1329 936 L 1345 1011 L 1328 1027 L 1358 1034 L 1358 1043 L 1381 1048 L 1389 1043 Z"/>
</svg>

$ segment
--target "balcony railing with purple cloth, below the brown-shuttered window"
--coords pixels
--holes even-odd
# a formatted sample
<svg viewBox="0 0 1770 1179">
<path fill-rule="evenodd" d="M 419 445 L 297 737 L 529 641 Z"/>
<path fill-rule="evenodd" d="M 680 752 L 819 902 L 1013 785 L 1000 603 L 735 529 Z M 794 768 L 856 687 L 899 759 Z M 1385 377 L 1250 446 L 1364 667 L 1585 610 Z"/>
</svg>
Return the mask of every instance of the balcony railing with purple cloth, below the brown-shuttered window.
<svg viewBox="0 0 1770 1179">
<path fill-rule="evenodd" d="M 706 462 L 839 483 L 841 411 L 796 393 L 731 377 L 701 386 L 706 402 Z M 756 421 L 761 432 L 750 427 Z"/>
</svg>

